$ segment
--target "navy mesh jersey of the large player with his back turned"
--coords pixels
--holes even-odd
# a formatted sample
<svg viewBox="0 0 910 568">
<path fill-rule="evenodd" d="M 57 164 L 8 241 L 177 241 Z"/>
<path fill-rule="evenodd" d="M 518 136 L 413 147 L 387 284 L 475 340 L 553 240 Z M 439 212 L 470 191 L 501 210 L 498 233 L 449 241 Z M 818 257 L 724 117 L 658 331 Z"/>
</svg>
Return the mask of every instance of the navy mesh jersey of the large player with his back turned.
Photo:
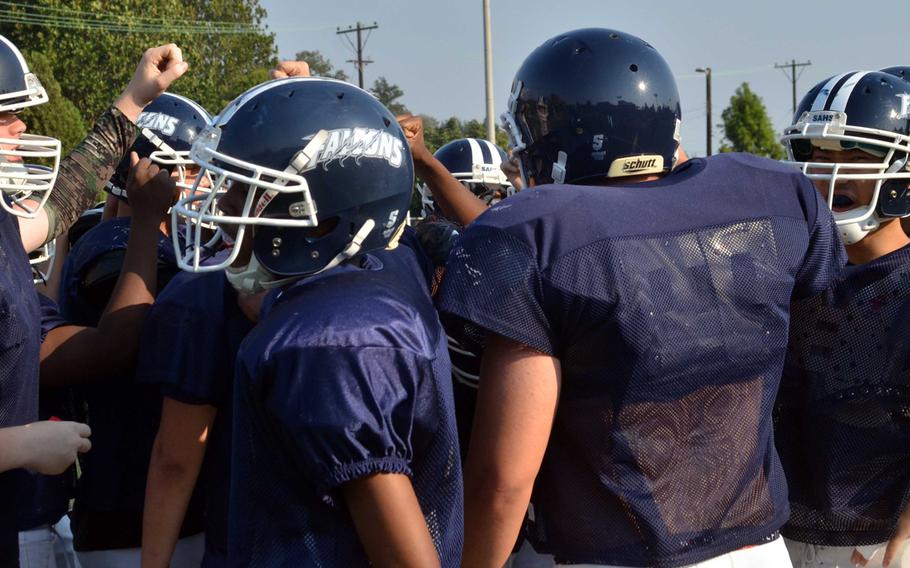
<svg viewBox="0 0 910 568">
<path fill-rule="evenodd" d="M 440 308 L 561 363 L 535 548 L 678 566 L 776 531 L 789 304 L 844 260 L 812 184 L 746 154 L 653 182 L 531 188 L 475 221 Z"/>
</svg>

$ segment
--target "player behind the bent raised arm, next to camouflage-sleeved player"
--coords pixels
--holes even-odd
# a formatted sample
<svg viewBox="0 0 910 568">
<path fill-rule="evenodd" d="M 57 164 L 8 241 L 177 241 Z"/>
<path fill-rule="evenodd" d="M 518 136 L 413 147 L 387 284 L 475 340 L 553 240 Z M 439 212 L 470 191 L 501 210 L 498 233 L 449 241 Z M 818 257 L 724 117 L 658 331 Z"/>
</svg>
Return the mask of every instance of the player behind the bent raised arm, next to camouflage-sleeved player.
<svg viewBox="0 0 910 568">
<path fill-rule="evenodd" d="M 211 122 L 195 102 L 170 93 L 158 97 L 139 115 L 140 135 L 132 151 L 169 171 L 175 191 L 185 191 L 195 180 L 189 149 Z M 126 174 L 121 163 L 106 189 L 128 201 Z M 205 186 L 204 180 L 199 184 Z M 176 197 L 177 195 L 175 195 Z M 121 211 L 128 208 L 121 208 Z M 159 218 L 157 233 L 157 292 L 177 273 L 176 257 L 168 237 L 167 216 Z M 133 220 L 115 217 L 90 229 L 72 248 L 62 269 L 60 311 L 78 325 L 95 326 L 111 298 L 121 271 Z M 149 456 L 161 412 L 156 387 L 140 384 L 131 367 L 126 372 L 96 376 L 76 389 L 80 406 L 94 432 L 94 449 L 80 461 L 72 528 L 74 546 L 84 568 L 118 561 L 138 565 L 142 542 L 142 514 Z M 175 556 L 175 566 L 198 563 L 204 546 L 201 501 L 187 516 Z"/>
</svg>

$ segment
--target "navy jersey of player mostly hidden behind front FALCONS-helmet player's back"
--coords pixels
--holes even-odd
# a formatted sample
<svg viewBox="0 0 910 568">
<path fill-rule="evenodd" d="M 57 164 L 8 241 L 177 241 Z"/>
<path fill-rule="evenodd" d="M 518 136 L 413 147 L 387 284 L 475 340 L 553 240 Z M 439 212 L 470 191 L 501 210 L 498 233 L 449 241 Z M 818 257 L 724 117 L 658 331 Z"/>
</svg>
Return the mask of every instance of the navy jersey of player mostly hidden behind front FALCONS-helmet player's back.
<svg viewBox="0 0 910 568">
<path fill-rule="evenodd" d="M 234 357 L 252 327 L 223 272 L 182 272 L 155 300 L 143 328 L 137 379 L 158 385 L 168 398 L 218 409 L 200 476 L 205 567 L 227 559 Z"/>
</svg>

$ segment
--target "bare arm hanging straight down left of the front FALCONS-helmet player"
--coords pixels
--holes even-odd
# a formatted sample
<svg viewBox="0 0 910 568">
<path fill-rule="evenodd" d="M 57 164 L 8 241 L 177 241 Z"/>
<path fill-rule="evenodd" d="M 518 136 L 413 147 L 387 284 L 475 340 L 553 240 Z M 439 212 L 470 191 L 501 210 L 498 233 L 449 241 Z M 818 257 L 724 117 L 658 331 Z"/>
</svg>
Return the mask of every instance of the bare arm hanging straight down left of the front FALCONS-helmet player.
<svg viewBox="0 0 910 568">
<path fill-rule="evenodd" d="M 214 406 L 186 404 L 164 397 L 145 486 L 144 568 L 170 566 L 216 414 Z"/>
</svg>

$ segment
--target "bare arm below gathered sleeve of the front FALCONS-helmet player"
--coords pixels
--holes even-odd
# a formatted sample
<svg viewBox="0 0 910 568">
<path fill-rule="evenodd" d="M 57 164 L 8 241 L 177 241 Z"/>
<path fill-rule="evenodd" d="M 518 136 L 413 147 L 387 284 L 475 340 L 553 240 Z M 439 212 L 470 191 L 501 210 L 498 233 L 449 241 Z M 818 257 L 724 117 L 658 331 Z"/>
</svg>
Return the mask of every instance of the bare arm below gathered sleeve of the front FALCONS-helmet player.
<svg viewBox="0 0 910 568">
<path fill-rule="evenodd" d="M 370 475 L 345 483 L 341 491 L 373 566 L 439 566 L 408 476 Z"/>
</svg>

